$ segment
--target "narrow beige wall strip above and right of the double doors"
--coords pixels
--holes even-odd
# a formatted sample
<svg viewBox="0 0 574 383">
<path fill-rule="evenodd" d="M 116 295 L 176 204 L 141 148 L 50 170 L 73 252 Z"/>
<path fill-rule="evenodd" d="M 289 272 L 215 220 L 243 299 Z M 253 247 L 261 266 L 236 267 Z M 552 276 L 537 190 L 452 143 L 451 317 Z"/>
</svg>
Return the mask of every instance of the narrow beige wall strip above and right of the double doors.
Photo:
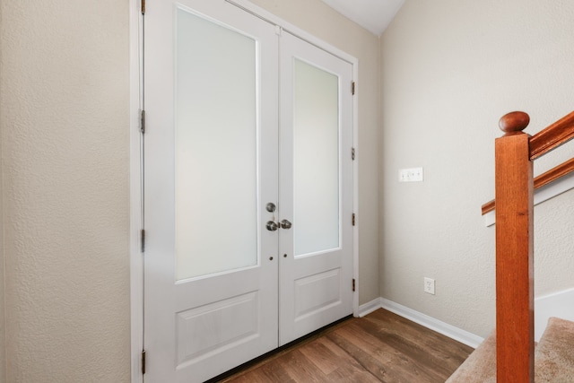
<svg viewBox="0 0 574 383">
<path fill-rule="evenodd" d="M 253 0 L 359 60 L 359 300 L 378 292 L 378 38 L 319 0 Z"/>
</svg>

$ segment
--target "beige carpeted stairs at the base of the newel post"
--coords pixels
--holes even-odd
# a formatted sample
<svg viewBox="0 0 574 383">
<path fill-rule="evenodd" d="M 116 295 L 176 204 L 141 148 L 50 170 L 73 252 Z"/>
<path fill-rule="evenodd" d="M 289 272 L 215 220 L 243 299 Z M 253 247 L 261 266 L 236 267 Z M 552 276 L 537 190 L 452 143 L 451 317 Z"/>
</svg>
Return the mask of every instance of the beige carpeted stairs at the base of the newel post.
<svg viewBox="0 0 574 383">
<path fill-rule="evenodd" d="M 574 322 L 550 318 L 535 348 L 535 383 L 574 382 Z M 496 334 L 487 337 L 445 383 L 496 383 Z"/>
</svg>

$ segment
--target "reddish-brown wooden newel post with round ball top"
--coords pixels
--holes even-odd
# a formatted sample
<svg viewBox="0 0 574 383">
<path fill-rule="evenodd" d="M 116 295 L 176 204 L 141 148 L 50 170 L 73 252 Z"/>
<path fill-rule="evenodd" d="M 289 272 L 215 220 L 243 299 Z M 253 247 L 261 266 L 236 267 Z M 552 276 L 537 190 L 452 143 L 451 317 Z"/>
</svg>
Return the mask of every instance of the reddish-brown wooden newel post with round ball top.
<svg viewBox="0 0 574 383">
<path fill-rule="evenodd" d="M 500 118 L 496 139 L 496 336 L 498 383 L 534 382 L 533 164 L 530 118 Z"/>
</svg>

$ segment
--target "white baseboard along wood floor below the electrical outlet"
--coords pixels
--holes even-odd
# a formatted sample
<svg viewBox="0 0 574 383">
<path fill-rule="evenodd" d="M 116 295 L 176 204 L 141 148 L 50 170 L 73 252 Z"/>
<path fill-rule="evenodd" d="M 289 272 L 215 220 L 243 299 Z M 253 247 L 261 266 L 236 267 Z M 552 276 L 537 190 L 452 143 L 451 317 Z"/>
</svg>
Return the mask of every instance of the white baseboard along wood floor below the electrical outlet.
<svg viewBox="0 0 574 383">
<path fill-rule="evenodd" d="M 413 309 L 409 309 L 392 300 L 386 300 L 385 298 L 371 300 L 370 302 L 361 305 L 359 307 L 359 316 L 364 317 L 365 315 L 370 314 L 371 312 L 380 308 L 394 312 L 396 315 L 400 315 L 403 318 L 412 320 L 414 323 L 418 323 L 421 326 L 430 328 L 439 334 L 446 335 L 451 339 L 454 339 L 462 344 L 469 345 L 473 348 L 478 347 L 478 345 L 482 344 L 484 340 L 484 338 L 478 335 L 474 335 L 458 327 L 451 326 L 448 323 L 440 321 L 439 319 L 431 318 L 428 315 L 422 314 L 421 312 L 415 311 Z"/>
</svg>

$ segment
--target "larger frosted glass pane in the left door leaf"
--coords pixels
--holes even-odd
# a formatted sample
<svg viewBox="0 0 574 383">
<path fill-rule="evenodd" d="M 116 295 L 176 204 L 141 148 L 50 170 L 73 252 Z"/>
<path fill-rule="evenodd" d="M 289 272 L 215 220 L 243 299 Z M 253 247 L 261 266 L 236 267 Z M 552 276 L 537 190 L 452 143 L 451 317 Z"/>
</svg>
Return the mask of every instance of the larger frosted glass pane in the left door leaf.
<svg viewBox="0 0 574 383">
<path fill-rule="evenodd" d="M 178 280 L 257 265 L 257 41 L 178 9 Z"/>
</svg>

